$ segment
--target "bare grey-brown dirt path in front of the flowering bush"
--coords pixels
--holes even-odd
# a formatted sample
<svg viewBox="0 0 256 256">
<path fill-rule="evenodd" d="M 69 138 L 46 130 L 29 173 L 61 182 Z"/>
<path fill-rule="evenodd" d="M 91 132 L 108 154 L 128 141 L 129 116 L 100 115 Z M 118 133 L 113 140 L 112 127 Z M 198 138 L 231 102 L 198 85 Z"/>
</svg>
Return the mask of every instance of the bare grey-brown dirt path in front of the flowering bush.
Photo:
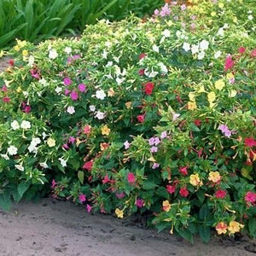
<svg viewBox="0 0 256 256">
<path fill-rule="evenodd" d="M 21 202 L 11 212 L 0 211 L 1 256 L 255 256 L 252 241 L 213 239 L 195 245 L 169 234 L 158 234 L 100 214 L 91 215 L 82 206 L 44 199 Z M 255 248 L 255 247 L 254 247 Z"/>
</svg>

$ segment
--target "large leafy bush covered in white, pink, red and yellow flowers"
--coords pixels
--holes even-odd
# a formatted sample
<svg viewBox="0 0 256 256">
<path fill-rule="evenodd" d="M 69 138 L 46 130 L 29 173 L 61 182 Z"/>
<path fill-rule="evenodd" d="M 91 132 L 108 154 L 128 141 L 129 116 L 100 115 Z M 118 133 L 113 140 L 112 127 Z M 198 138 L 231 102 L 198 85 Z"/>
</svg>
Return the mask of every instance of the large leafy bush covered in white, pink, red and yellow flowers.
<svg viewBox="0 0 256 256">
<path fill-rule="evenodd" d="M 88 212 L 151 212 L 189 241 L 256 236 L 256 9 L 189 2 L 79 41 L 17 41 L 1 76 L 2 207 L 48 181 Z"/>
</svg>

